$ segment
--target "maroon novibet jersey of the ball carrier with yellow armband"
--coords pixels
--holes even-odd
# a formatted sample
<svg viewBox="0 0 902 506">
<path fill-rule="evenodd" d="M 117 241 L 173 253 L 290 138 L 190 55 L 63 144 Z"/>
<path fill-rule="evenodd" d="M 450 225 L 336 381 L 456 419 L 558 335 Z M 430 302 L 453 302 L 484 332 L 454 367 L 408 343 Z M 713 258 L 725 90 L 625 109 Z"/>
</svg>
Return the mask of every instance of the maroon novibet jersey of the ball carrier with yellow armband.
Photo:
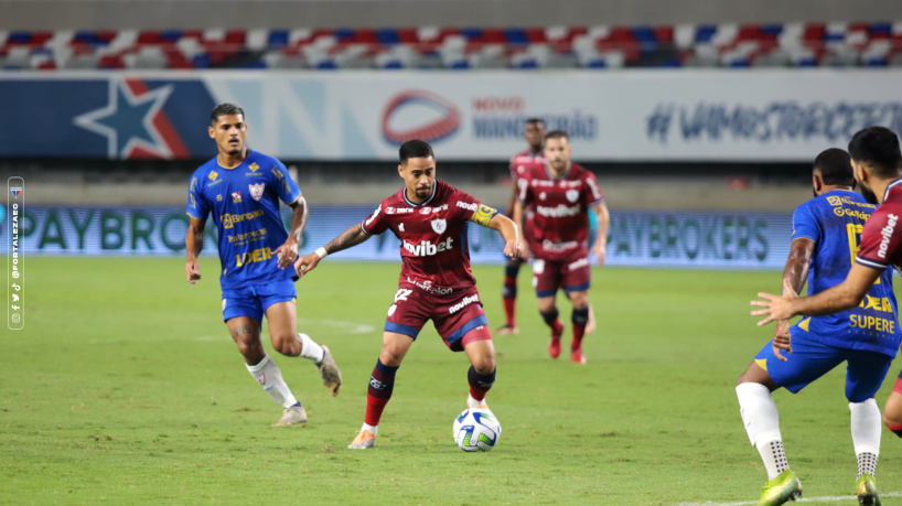
<svg viewBox="0 0 902 506">
<path fill-rule="evenodd" d="M 400 281 L 444 295 L 476 284 L 470 271 L 466 226 L 470 222 L 487 226 L 495 214 L 473 196 L 436 181 L 432 195 L 421 204 L 410 202 L 401 189 L 361 227 L 371 235 L 394 232 L 401 241 Z"/>
</svg>

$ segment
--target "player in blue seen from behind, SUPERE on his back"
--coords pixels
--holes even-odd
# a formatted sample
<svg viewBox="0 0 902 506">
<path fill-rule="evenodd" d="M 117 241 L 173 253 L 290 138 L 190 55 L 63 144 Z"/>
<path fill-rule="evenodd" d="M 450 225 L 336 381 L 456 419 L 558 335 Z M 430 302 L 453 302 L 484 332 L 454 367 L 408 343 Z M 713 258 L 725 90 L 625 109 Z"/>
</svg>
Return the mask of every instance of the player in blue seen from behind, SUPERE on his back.
<svg viewBox="0 0 902 506">
<path fill-rule="evenodd" d="M 862 228 L 876 209 L 852 191 L 851 161 L 840 149 L 817 157 L 813 182 L 815 198 L 793 215 L 790 258 L 783 270 L 784 293 L 793 293 L 791 297 L 802 290 L 806 278 L 810 294 L 842 283 L 858 256 Z M 802 485 L 786 460 L 771 392 L 782 387 L 796 394 L 844 362 L 858 459 L 858 497 L 860 504 L 880 504 L 873 475 L 881 420 L 873 396 L 899 349 L 900 331 L 892 271 L 883 270 L 874 278 L 858 305 L 804 317 L 792 327 L 781 320 L 774 340 L 739 377 L 735 390 L 742 421 L 767 470 L 769 482 L 759 504 L 781 505 L 802 495 Z"/>
</svg>

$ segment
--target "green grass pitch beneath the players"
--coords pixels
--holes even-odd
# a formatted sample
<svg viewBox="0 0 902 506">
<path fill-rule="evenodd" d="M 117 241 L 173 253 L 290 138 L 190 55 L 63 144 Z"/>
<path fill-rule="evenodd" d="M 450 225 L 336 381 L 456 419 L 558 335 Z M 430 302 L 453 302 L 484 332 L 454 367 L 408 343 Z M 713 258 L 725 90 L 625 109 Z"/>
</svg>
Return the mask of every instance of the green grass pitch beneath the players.
<svg viewBox="0 0 902 506">
<path fill-rule="evenodd" d="M 217 263 L 203 259 L 190 286 L 179 258 L 28 260 L 25 330 L 2 332 L 0 504 L 667 506 L 755 500 L 766 478 L 733 387 L 773 332 L 755 327 L 748 301 L 778 290 L 776 272 L 597 269 L 587 366 L 547 356 L 520 272 L 520 334 L 495 338 L 488 396 L 504 433 L 492 452 L 468 454 L 451 434 L 466 358 L 431 325 L 398 372 L 376 448 L 345 449 L 397 265 L 325 261 L 298 283 L 299 327 L 332 347 L 345 384 L 333 399 L 310 363 L 273 355 L 310 416 L 275 428 L 280 408 L 222 322 Z M 494 329 L 502 268 L 474 272 Z M 852 493 L 844 374 L 775 396 L 809 497 Z M 884 430 L 882 492 L 902 491 L 900 463 L 902 441 Z"/>
</svg>

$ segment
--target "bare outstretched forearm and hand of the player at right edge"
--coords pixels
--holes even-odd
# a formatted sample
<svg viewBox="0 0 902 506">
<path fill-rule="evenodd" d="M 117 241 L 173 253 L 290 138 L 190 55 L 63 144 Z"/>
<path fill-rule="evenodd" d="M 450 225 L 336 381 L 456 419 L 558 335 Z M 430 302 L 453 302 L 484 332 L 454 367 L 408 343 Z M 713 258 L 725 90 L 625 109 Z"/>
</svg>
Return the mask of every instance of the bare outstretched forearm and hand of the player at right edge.
<svg viewBox="0 0 902 506">
<path fill-rule="evenodd" d="M 846 281 L 836 287 L 825 290 L 816 295 L 803 297 L 798 299 L 792 292 L 788 280 L 783 281 L 783 287 L 790 293 L 777 297 L 771 293 L 759 293 L 763 301 L 752 301 L 751 304 L 763 310 L 752 311 L 752 316 L 766 316 L 758 322 L 759 326 L 766 325 L 777 320 L 788 320 L 793 316 L 804 314 L 806 316 L 823 316 L 833 314 L 860 304 L 868 293 L 873 282 L 880 278 L 882 271 L 865 267 L 860 263 L 852 263 Z"/>
</svg>

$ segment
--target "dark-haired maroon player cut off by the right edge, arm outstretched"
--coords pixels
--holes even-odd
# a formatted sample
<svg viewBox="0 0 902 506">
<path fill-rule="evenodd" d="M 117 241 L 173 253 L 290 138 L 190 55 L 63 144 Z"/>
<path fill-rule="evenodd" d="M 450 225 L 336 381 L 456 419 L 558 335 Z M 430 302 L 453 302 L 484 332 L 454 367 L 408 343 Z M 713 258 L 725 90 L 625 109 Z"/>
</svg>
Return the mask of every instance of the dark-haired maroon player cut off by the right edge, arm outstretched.
<svg viewBox="0 0 902 506">
<path fill-rule="evenodd" d="M 852 137 L 849 142 L 855 179 L 862 187 L 865 198 L 880 204 L 861 230 L 858 255 L 846 281 L 813 297 L 798 298 L 784 282 L 784 294 L 759 293 L 763 301 L 751 304 L 764 308 L 752 311 L 754 316 L 766 316 L 759 325 L 788 320 L 804 314 L 819 316 L 845 311 L 861 304 L 868 290 L 880 274 L 890 267 L 902 269 L 902 151 L 899 137 L 883 127 L 869 127 Z M 880 319 L 874 319 L 880 320 Z M 899 325 L 893 321 L 867 322 L 866 325 Z M 776 341 L 774 344 L 777 345 Z M 788 340 L 780 347 L 792 353 Z M 902 375 L 883 408 L 883 422 L 902 438 Z"/>
</svg>

